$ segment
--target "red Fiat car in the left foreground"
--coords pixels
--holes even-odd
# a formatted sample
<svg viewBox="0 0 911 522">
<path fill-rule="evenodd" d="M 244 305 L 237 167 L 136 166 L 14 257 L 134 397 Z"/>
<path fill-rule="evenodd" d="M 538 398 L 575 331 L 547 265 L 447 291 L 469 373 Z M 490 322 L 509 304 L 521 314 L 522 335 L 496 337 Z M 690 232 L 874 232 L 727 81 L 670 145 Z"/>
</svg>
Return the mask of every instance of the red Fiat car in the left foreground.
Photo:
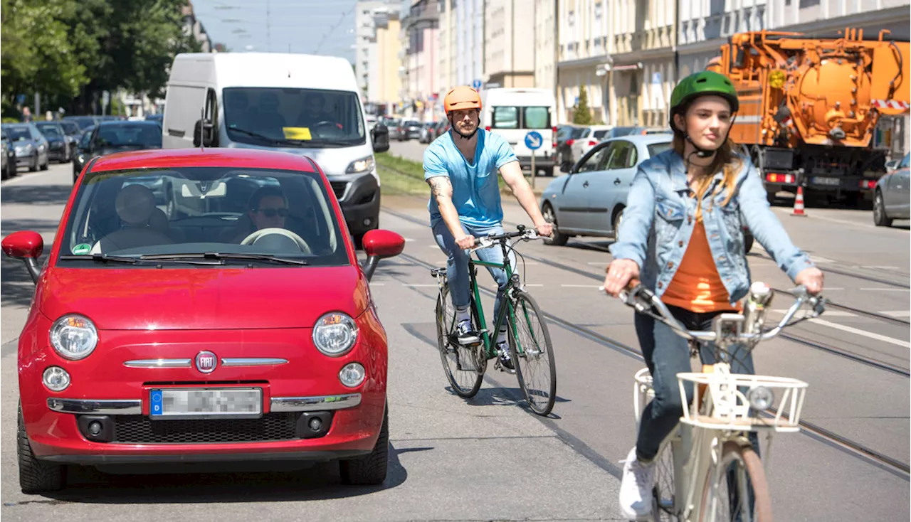
<svg viewBox="0 0 911 522">
<path fill-rule="evenodd" d="M 309 158 L 237 148 L 92 159 L 43 267 L 5 237 L 36 292 L 19 337 L 19 481 L 68 465 L 338 460 L 386 476 L 386 335 L 370 294 L 388 230 L 363 238 Z"/>
</svg>

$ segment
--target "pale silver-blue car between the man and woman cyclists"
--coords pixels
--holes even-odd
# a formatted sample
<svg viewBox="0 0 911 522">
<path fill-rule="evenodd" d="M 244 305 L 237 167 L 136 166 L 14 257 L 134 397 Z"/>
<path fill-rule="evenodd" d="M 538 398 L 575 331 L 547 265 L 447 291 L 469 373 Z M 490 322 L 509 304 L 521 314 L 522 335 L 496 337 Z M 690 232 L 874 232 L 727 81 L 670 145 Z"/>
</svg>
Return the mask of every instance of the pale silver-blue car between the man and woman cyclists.
<svg viewBox="0 0 911 522">
<path fill-rule="evenodd" d="M 617 238 L 627 195 L 640 163 L 670 149 L 673 135 L 630 134 L 606 139 L 541 194 L 541 213 L 554 224 L 546 244 L 563 246 L 573 236 Z M 744 249 L 753 237 L 744 227 Z"/>
</svg>

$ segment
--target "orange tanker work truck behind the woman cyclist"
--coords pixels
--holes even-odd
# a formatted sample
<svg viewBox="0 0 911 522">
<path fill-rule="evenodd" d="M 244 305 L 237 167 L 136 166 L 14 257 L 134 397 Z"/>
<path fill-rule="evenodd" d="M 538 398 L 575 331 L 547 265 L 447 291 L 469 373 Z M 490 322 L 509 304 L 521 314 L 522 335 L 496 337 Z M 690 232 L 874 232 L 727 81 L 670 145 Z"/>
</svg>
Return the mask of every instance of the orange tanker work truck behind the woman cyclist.
<svg viewBox="0 0 911 522">
<path fill-rule="evenodd" d="M 856 206 L 870 199 L 889 149 L 875 139 L 877 124 L 911 114 L 911 43 L 886 34 L 741 33 L 710 61 L 737 87 L 731 138 L 762 173 L 770 201 L 798 185 Z"/>
</svg>

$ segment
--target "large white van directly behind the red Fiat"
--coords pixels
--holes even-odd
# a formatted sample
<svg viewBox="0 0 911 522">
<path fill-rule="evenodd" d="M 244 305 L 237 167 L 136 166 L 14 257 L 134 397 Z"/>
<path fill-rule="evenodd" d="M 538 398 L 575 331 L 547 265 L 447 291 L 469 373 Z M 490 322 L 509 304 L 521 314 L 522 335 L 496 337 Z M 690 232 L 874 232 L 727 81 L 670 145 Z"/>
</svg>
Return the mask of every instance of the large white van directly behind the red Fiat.
<svg viewBox="0 0 911 522">
<path fill-rule="evenodd" d="M 185 53 L 170 69 L 162 146 L 265 148 L 308 156 L 332 183 L 359 243 L 379 226 L 380 214 L 374 129 L 365 116 L 344 58 Z"/>
</svg>

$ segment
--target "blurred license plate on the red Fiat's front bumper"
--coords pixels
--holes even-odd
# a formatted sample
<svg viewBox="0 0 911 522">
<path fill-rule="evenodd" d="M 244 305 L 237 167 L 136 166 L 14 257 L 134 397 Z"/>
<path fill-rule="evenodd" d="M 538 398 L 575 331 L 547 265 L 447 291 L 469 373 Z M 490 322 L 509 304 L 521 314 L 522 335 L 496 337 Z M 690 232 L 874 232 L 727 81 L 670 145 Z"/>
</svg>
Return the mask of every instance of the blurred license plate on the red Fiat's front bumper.
<svg viewBox="0 0 911 522">
<path fill-rule="evenodd" d="M 149 392 L 153 419 L 256 418 L 262 415 L 261 388 L 164 388 Z"/>
</svg>

